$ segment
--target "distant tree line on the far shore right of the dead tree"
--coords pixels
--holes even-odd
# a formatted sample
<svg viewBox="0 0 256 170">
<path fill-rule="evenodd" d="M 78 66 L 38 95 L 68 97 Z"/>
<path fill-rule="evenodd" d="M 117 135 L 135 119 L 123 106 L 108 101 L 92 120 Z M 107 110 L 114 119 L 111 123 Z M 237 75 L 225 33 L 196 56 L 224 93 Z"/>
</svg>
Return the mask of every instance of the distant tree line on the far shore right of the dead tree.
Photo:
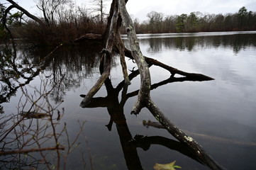
<svg viewBox="0 0 256 170">
<path fill-rule="evenodd" d="M 165 16 L 151 11 L 148 21 L 140 23 L 135 18 L 136 33 L 195 33 L 210 31 L 256 30 L 256 13 L 243 6 L 237 13 L 203 14 L 191 12 L 189 15 Z"/>
</svg>

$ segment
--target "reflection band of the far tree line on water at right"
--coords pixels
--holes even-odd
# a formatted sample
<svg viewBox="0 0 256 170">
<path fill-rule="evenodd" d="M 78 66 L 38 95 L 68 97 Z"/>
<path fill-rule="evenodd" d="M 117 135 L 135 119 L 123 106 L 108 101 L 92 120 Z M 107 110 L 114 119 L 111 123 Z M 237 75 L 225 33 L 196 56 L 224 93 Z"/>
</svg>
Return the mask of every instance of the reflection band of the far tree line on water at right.
<svg viewBox="0 0 256 170">
<path fill-rule="evenodd" d="M 218 34 L 218 33 L 216 33 Z M 238 53 L 240 50 L 246 47 L 256 47 L 256 34 L 234 34 L 234 35 L 212 35 L 205 36 L 199 34 L 198 36 L 165 36 L 165 37 L 143 37 L 140 39 L 140 43 L 149 43 L 148 53 L 157 53 L 162 51 L 162 47 L 173 50 L 197 50 L 204 47 L 231 47 L 234 53 Z M 139 37 L 140 38 L 140 37 Z"/>
</svg>

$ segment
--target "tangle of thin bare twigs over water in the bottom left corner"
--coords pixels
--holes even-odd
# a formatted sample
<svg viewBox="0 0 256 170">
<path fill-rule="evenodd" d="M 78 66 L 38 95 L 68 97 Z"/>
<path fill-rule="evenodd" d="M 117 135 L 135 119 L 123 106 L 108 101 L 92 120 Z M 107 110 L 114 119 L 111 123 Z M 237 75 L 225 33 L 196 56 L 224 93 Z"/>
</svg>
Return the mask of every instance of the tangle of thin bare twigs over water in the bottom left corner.
<svg viewBox="0 0 256 170">
<path fill-rule="evenodd" d="M 47 89 L 50 77 L 40 74 L 40 88 L 21 86 L 17 112 L 1 114 L 1 169 L 60 169 L 67 164 L 67 156 L 77 147 L 77 139 L 84 123 L 80 123 L 77 137 L 69 139 L 67 126 L 57 128 L 64 108 L 50 102 L 52 89 Z M 67 136 L 63 142 L 62 136 Z M 65 152 L 60 152 L 64 150 Z M 61 160 L 63 165 L 61 164 Z"/>
</svg>

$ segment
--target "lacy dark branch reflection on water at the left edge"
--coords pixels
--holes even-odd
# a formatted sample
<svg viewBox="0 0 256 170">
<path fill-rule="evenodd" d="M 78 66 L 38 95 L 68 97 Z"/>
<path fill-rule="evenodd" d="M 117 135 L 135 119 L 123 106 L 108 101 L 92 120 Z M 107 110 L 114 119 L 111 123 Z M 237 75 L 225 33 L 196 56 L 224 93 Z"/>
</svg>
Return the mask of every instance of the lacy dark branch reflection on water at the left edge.
<svg viewBox="0 0 256 170">
<path fill-rule="evenodd" d="M 5 47 L 0 54 L 0 103 L 9 102 L 21 86 L 29 84 L 52 60 L 51 56 L 47 55 L 42 62 L 33 61 L 36 58 L 22 53 L 18 55 L 15 46 Z"/>
</svg>

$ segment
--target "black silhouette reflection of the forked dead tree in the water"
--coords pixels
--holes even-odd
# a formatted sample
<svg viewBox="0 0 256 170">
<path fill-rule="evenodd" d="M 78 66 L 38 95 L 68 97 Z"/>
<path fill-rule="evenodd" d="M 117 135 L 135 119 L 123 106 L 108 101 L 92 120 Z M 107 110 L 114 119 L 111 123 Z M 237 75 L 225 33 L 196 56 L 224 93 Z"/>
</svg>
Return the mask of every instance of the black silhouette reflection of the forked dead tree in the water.
<svg viewBox="0 0 256 170">
<path fill-rule="evenodd" d="M 139 74 L 138 70 L 133 71 L 129 75 L 130 81 L 137 77 Z M 198 79 L 188 79 L 186 77 L 170 77 L 164 81 L 160 81 L 157 84 L 152 84 L 151 90 L 156 89 L 159 86 L 169 84 L 177 81 L 200 81 Z M 200 162 L 194 154 L 192 154 L 187 147 L 185 147 L 181 142 L 170 140 L 166 137 L 154 136 L 154 137 L 144 137 L 143 135 L 136 135 L 133 137 L 130 133 L 128 125 L 126 123 L 126 116 L 124 115 L 123 107 L 128 100 L 133 96 L 138 95 L 138 91 L 133 91 L 128 93 L 128 86 L 121 81 L 116 88 L 111 84 L 110 79 L 106 79 L 104 82 L 106 86 L 107 96 L 106 97 L 96 97 L 91 98 L 91 102 L 86 106 L 86 108 L 107 108 L 108 114 L 110 115 L 110 120 L 106 127 L 108 130 L 112 130 L 113 123 L 116 124 L 116 129 L 118 131 L 119 139 L 123 149 L 123 155 L 126 159 L 126 165 L 128 169 L 143 169 L 140 158 L 138 157 L 137 148 L 141 147 L 143 150 L 148 150 L 150 145 L 162 145 L 169 149 L 176 150 L 191 159 Z M 119 101 L 118 96 L 121 93 L 121 101 Z M 85 95 L 81 95 L 84 97 Z M 201 162 L 200 162 L 201 163 Z"/>
</svg>

